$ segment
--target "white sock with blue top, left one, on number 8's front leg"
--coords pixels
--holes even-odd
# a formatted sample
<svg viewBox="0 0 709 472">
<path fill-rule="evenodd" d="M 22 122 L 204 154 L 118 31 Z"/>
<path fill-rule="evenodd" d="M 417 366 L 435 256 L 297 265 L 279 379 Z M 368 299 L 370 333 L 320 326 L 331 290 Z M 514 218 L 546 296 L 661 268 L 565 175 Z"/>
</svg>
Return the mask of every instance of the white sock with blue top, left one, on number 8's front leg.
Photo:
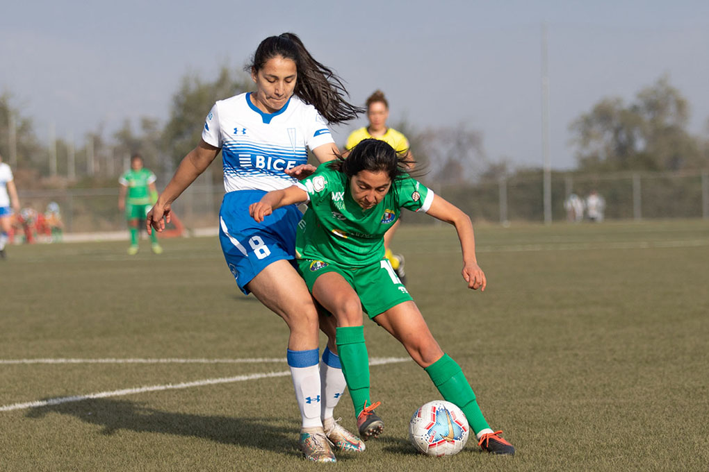
<svg viewBox="0 0 709 472">
<path fill-rule="evenodd" d="M 291 368 L 296 401 L 301 410 L 303 428 L 323 427 L 320 420 L 320 367 L 318 350 L 288 350 L 288 365 Z"/>
</svg>

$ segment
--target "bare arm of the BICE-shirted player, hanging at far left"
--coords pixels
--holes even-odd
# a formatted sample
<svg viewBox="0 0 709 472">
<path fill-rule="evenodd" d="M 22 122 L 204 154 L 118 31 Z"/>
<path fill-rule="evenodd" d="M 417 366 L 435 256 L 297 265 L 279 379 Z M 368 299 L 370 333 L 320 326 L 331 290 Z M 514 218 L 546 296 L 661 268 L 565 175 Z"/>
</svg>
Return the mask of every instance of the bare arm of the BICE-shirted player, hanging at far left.
<svg viewBox="0 0 709 472">
<path fill-rule="evenodd" d="M 167 187 L 157 197 L 157 202 L 145 217 L 148 234 L 152 232 L 152 228 L 157 229 L 158 232 L 165 228 L 165 221 L 170 222 L 172 202 L 177 200 L 177 197 L 204 172 L 219 154 L 219 151 L 220 148 L 200 140 L 197 147 L 184 156 Z M 165 221 L 163 221 L 163 217 Z"/>
</svg>

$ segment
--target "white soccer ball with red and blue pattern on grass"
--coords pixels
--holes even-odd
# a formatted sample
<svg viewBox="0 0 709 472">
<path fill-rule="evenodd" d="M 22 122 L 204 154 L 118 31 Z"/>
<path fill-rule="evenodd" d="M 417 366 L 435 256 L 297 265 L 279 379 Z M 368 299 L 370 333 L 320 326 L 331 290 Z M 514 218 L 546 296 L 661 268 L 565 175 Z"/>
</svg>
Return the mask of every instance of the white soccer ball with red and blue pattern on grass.
<svg viewBox="0 0 709 472">
<path fill-rule="evenodd" d="M 408 439 L 428 456 L 458 454 L 468 441 L 470 427 L 463 412 L 449 401 L 430 401 L 416 410 L 408 425 Z"/>
</svg>

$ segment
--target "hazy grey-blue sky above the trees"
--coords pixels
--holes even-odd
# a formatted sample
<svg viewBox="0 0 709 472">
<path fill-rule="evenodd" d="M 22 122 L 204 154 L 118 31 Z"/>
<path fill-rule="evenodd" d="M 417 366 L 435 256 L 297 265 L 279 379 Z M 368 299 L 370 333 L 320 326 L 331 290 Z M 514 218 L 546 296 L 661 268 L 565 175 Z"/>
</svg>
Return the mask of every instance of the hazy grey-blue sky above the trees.
<svg viewBox="0 0 709 472">
<path fill-rule="evenodd" d="M 569 123 L 603 97 L 632 100 L 667 74 L 708 133 L 709 2 L 27 1 L 0 16 L 0 92 L 40 137 L 79 137 L 125 118 L 167 119 L 185 74 L 241 67 L 259 41 L 293 31 L 355 103 L 381 88 L 390 122 L 461 123 L 491 161 L 541 166 L 541 24 L 548 24 L 551 152 L 574 166 Z M 204 110 L 208 113 L 208 110 Z M 334 129 L 338 144 L 364 118 Z M 201 127 L 201 123 L 195 123 Z"/>
</svg>

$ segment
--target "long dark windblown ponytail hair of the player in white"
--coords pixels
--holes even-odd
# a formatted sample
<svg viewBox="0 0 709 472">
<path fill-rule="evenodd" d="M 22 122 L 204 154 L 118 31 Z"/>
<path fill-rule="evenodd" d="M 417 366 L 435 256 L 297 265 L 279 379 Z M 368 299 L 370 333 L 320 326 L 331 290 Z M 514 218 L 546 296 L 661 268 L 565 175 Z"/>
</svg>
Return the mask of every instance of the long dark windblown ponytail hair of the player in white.
<svg viewBox="0 0 709 472">
<path fill-rule="evenodd" d="M 341 123 L 364 113 L 364 108 L 345 100 L 349 96 L 340 77 L 329 67 L 316 61 L 294 33 L 269 36 L 256 48 L 247 71 L 258 72 L 272 57 L 281 56 L 296 63 L 298 79 L 294 93 L 313 105 L 328 123 Z"/>
</svg>

